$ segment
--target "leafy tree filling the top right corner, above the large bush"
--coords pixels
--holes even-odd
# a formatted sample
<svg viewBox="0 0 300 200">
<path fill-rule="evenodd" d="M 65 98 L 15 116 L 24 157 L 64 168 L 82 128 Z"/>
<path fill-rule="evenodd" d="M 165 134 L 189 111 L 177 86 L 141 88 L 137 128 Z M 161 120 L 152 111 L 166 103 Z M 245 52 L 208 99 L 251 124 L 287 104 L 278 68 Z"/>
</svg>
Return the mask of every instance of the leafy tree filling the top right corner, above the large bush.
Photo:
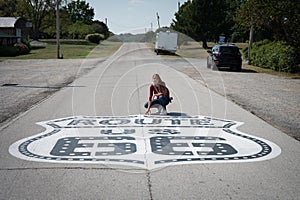
<svg viewBox="0 0 300 200">
<path fill-rule="evenodd" d="M 294 0 L 246 0 L 235 18 L 237 25 L 265 29 L 274 40 L 300 45 L 300 2 Z"/>
</svg>

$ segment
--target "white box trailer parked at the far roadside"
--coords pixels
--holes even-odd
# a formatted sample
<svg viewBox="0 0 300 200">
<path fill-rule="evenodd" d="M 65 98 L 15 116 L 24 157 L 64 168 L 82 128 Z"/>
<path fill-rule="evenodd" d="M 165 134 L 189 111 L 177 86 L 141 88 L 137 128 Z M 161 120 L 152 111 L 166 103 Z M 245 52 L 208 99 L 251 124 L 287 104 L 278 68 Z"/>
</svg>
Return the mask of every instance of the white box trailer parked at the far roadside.
<svg viewBox="0 0 300 200">
<path fill-rule="evenodd" d="M 177 39 L 177 33 L 160 31 L 156 34 L 154 51 L 157 55 L 161 52 L 175 53 L 177 50 Z"/>
</svg>

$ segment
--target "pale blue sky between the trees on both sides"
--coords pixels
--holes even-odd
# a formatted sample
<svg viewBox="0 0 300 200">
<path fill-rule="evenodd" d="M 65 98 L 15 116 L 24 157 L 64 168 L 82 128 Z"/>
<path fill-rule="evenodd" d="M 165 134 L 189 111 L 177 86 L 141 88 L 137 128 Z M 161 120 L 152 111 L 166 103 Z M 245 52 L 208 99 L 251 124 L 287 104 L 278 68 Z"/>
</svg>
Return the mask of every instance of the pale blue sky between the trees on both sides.
<svg viewBox="0 0 300 200">
<path fill-rule="evenodd" d="M 187 0 L 86 0 L 94 8 L 94 20 L 108 21 L 108 28 L 115 34 L 145 33 L 158 28 L 156 13 L 160 26 L 170 26 L 178 11 L 178 2 Z"/>
</svg>

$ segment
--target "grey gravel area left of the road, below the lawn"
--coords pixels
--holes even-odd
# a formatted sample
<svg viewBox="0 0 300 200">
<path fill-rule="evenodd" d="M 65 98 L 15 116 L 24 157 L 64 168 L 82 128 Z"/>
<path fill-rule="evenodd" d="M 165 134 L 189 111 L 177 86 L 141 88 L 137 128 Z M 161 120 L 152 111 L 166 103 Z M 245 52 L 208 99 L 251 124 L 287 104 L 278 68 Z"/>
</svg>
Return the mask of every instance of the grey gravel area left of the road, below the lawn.
<svg viewBox="0 0 300 200">
<path fill-rule="evenodd" d="M 76 78 L 104 60 L 0 61 L 0 126 L 54 92 L 70 87 Z"/>
</svg>

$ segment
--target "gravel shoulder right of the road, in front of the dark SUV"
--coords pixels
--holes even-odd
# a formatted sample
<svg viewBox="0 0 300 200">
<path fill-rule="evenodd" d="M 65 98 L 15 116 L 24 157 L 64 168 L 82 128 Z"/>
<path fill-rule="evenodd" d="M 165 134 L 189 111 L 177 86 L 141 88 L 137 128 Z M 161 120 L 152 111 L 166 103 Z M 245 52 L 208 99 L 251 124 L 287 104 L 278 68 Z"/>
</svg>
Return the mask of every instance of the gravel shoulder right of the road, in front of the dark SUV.
<svg viewBox="0 0 300 200">
<path fill-rule="evenodd" d="M 300 141 L 299 79 L 245 69 L 212 71 L 206 68 L 206 59 L 170 58 L 165 62 Z"/>
</svg>

